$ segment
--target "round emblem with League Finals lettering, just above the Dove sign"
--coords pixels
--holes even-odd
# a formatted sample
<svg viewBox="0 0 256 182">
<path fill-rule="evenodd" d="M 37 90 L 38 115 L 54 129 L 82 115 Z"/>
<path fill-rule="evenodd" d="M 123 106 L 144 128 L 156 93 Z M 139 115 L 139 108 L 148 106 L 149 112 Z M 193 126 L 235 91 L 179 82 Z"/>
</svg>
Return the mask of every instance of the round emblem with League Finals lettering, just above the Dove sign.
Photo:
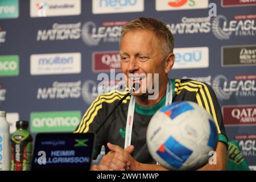
<svg viewBox="0 0 256 182">
<path fill-rule="evenodd" d="M 255 15 L 236 15 L 228 20 L 224 15 L 218 15 L 212 20 L 212 32 L 217 39 L 230 39 L 235 36 L 255 36 Z"/>
</svg>

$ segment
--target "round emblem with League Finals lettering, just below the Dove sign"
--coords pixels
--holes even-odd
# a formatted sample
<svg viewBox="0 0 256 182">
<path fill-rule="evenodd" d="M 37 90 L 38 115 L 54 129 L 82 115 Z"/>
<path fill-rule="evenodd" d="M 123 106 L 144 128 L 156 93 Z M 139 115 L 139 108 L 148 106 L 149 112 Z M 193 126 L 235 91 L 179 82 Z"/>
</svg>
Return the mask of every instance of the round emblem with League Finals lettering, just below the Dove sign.
<svg viewBox="0 0 256 182">
<path fill-rule="evenodd" d="M 228 100 L 232 95 L 236 97 L 256 96 L 256 75 L 238 75 L 228 80 L 224 75 L 213 78 L 212 88 L 220 100 Z"/>
</svg>

